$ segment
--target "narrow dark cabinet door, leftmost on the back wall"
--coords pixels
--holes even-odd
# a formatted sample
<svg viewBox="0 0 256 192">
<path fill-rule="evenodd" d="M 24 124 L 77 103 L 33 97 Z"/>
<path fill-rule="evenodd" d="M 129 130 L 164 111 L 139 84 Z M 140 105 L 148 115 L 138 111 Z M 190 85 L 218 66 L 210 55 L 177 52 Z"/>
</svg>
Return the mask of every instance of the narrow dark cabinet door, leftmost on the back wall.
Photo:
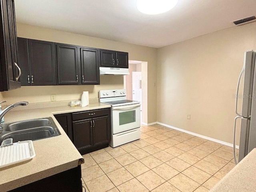
<svg viewBox="0 0 256 192">
<path fill-rule="evenodd" d="M 18 64 L 22 71 L 20 82 L 22 86 L 31 84 L 30 81 L 30 67 L 28 60 L 28 39 L 18 38 Z"/>
</svg>

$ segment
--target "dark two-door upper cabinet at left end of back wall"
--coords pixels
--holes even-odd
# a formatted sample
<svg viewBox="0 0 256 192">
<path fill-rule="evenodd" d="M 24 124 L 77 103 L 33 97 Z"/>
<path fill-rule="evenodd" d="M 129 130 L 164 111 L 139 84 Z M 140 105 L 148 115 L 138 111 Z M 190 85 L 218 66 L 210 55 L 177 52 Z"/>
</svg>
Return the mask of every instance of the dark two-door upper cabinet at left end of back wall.
<svg viewBox="0 0 256 192">
<path fill-rule="evenodd" d="M 56 85 L 54 43 L 18 38 L 22 86 Z"/>
</svg>

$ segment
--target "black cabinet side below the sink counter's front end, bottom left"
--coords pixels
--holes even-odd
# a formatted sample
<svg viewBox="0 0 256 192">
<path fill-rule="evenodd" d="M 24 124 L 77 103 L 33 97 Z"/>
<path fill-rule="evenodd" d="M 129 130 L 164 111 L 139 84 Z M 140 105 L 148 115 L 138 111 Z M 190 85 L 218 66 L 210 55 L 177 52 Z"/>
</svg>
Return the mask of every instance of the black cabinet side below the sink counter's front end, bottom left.
<svg viewBox="0 0 256 192">
<path fill-rule="evenodd" d="M 82 192 L 81 166 L 38 180 L 10 192 Z"/>
</svg>

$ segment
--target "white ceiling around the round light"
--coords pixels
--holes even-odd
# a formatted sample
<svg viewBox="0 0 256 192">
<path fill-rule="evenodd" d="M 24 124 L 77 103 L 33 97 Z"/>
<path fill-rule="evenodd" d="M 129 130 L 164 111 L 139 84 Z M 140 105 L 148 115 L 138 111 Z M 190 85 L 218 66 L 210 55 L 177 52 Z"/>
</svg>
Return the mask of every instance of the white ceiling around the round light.
<svg viewBox="0 0 256 192">
<path fill-rule="evenodd" d="M 256 15 L 256 0 L 179 0 L 159 15 L 136 0 L 15 0 L 15 10 L 20 23 L 160 48 L 230 28 Z"/>
</svg>

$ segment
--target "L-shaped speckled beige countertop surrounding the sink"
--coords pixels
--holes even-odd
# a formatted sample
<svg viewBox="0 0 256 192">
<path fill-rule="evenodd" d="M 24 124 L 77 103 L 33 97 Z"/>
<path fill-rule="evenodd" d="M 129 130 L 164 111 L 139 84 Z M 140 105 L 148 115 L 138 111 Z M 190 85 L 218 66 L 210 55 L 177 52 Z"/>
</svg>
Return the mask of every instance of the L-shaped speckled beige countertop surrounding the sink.
<svg viewBox="0 0 256 192">
<path fill-rule="evenodd" d="M 110 105 L 96 102 L 90 103 L 86 107 L 55 106 L 34 109 L 26 109 L 26 107 L 27 106 L 22 106 L 17 107 L 19 110 L 10 110 L 4 116 L 5 123 L 52 117 L 61 135 L 34 141 L 33 145 L 36 156 L 32 158 L 32 160 L 1 168 L 1 192 L 12 190 L 65 170 L 75 168 L 78 166 L 79 160 L 83 161 L 76 147 L 54 118 L 54 114 L 109 108 Z"/>
</svg>

